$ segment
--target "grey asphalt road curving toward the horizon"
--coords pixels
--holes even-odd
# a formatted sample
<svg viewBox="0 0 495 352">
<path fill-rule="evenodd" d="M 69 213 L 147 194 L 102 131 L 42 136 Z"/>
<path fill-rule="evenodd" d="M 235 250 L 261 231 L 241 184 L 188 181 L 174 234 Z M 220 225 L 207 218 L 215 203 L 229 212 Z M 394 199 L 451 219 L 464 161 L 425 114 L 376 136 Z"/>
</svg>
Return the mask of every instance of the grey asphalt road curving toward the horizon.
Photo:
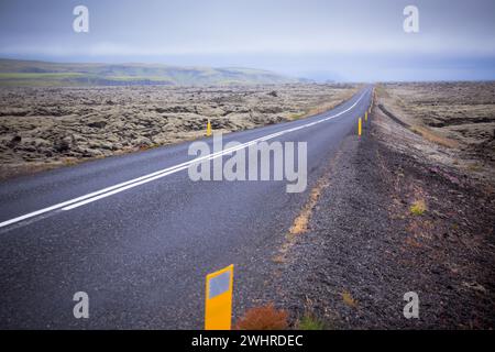
<svg viewBox="0 0 495 352">
<path fill-rule="evenodd" d="M 193 182 L 173 168 L 194 160 L 189 143 L 2 183 L 0 328 L 200 329 L 205 276 L 229 264 L 242 310 L 263 289 L 258 263 L 270 260 L 342 139 L 356 133 L 371 90 L 308 119 L 223 136 L 307 142 L 300 194 L 286 193 L 286 180 Z M 74 318 L 76 292 L 89 295 L 89 319 Z"/>
</svg>

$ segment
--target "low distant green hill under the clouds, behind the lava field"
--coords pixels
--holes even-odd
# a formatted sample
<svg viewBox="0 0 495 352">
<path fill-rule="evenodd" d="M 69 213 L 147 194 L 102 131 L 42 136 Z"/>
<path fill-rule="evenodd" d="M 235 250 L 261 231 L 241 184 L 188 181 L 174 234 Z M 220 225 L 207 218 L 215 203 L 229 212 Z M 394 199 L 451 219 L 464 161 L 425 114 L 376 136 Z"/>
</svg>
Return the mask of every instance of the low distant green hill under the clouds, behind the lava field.
<svg viewBox="0 0 495 352">
<path fill-rule="evenodd" d="M 125 86 L 290 84 L 304 79 L 252 68 L 160 64 L 61 64 L 0 58 L 0 86 Z"/>
</svg>

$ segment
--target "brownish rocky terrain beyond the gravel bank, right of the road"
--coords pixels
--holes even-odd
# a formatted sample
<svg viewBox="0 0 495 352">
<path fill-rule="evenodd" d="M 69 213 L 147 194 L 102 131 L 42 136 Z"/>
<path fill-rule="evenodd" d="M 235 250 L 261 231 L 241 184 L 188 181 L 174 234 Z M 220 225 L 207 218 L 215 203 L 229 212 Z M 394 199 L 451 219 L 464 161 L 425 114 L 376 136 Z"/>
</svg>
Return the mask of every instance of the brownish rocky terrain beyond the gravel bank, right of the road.
<svg viewBox="0 0 495 352">
<path fill-rule="evenodd" d="M 495 179 L 495 82 L 386 84 L 378 91 L 387 111 L 444 146 L 442 153 L 425 150 L 427 156 Z"/>
</svg>

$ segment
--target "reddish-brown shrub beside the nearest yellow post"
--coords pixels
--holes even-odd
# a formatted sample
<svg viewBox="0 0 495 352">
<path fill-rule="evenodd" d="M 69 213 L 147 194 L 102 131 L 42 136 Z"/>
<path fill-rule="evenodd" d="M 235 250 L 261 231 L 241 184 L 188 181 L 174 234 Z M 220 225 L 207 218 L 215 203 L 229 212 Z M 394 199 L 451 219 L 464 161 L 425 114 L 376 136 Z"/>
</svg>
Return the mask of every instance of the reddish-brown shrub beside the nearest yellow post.
<svg viewBox="0 0 495 352">
<path fill-rule="evenodd" d="M 249 309 L 235 324 L 237 330 L 285 330 L 288 312 L 276 309 L 273 304 Z"/>
</svg>

